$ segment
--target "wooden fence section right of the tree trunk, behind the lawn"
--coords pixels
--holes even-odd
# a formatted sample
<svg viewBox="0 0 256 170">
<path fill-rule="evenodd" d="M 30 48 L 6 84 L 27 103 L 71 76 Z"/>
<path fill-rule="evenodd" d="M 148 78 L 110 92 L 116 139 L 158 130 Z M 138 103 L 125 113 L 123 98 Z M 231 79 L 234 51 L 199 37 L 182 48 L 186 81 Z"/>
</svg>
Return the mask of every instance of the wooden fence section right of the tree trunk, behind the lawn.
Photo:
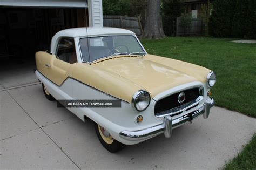
<svg viewBox="0 0 256 170">
<path fill-rule="evenodd" d="M 181 18 L 177 17 L 176 36 L 181 35 L 203 35 L 203 21 L 201 19 L 192 18 L 190 28 L 183 28 L 180 25 Z"/>
</svg>

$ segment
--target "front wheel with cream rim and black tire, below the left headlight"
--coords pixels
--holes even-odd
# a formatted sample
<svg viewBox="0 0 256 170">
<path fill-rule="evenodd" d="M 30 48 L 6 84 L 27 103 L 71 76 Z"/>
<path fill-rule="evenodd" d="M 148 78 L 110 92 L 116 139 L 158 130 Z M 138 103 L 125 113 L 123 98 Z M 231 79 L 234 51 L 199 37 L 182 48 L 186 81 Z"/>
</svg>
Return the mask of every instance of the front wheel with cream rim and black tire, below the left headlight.
<svg viewBox="0 0 256 170">
<path fill-rule="evenodd" d="M 95 123 L 95 130 L 100 143 L 107 149 L 107 151 L 118 152 L 124 148 L 125 145 L 115 140 L 104 127 Z"/>
</svg>

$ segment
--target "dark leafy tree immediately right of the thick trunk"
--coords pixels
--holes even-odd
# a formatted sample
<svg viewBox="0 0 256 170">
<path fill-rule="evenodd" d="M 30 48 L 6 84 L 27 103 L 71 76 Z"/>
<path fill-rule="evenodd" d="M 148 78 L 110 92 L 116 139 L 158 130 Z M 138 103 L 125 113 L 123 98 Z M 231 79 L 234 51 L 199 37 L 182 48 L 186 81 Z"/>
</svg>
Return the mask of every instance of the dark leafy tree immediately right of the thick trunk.
<svg viewBox="0 0 256 170">
<path fill-rule="evenodd" d="M 175 35 L 177 17 L 185 11 L 182 0 L 163 0 L 161 15 L 163 16 L 163 29 L 165 35 Z"/>
</svg>

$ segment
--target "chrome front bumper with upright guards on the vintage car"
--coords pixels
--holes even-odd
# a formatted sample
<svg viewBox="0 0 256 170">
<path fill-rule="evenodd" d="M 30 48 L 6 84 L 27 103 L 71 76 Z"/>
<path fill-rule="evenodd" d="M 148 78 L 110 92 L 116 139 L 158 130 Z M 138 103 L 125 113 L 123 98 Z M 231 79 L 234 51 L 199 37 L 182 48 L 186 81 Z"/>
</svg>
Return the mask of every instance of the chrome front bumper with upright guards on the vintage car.
<svg viewBox="0 0 256 170">
<path fill-rule="evenodd" d="M 200 107 L 197 111 L 191 112 L 187 115 L 184 115 L 176 119 L 172 119 L 170 115 L 167 115 L 164 118 L 162 124 L 138 131 L 122 131 L 119 133 L 119 135 L 120 137 L 126 140 L 144 140 L 164 133 L 166 138 L 170 138 L 172 135 L 172 128 L 179 126 L 181 124 L 185 124 L 188 121 L 199 117 L 199 115 L 201 114 L 203 114 L 203 117 L 207 119 L 210 113 L 210 108 L 212 106 L 214 106 L 214 100 L 206 100 L 204 105 Z"/>
</svg>

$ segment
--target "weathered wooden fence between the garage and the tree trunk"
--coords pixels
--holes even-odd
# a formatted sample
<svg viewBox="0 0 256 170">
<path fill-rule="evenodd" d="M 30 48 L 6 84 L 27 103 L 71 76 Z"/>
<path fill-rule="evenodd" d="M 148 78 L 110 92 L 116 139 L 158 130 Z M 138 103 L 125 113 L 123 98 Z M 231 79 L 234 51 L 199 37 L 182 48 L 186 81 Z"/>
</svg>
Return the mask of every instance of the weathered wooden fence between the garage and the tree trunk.
<svg viewBox="0 0 256 170">
<path fill-rule="evenodd" d="M 115 27 L 131 30 L 136 33 L 137 36 L 141 35 L 142 24 L 139 18 L 136 17 L 126 17 L 126 16 L 114 16 L 114 15 L 104 15 L 103 25 L 106 27 Z"/>
</svg>

